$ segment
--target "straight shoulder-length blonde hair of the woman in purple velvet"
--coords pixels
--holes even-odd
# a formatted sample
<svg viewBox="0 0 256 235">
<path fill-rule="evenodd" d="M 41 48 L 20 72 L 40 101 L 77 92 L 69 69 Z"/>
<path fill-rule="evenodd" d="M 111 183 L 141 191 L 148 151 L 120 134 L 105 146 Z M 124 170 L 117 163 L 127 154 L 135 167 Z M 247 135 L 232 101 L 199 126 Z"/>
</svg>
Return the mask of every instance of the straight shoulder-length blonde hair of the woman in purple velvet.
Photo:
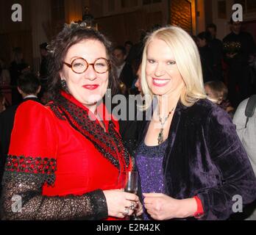
<svg viewBox="0 0 256 235">
<path fill-rule="evenodd" d="M 192 106 L 199 99 L 206 98 L 202 66 L 196 43 L 183 29 L 177 26 L 165 26 L 146 37 L 141 65 L 141 87 L 145 94 L 143 109 L 148 109 L 153 100 L 153 93 L 146 82 L 146 52 L 149 43 L 155 38 L 163 40 L 174 54 L 179 73 L 185 82 L 185 90 L 180 95 L 181 103 L 185 106 Z"/>
</svg>

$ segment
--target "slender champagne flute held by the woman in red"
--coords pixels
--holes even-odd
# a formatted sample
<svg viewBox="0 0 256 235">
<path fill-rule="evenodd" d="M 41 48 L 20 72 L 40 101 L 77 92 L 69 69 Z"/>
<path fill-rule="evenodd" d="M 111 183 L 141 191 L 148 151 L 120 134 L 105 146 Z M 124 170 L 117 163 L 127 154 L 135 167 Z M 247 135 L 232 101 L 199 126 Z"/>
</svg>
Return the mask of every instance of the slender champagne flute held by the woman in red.
<svg viewBox="0 0 256 235">
<path fill-rule="evenodd" d="M 137 171 L 127 171 L 122 173 L 121 177 L 121 187 L 124 189 L 124 192 L 130 192 L 137 194 L 138 192 L 138 172 Z M 136 216 L 136 214 L 132 214 L 129 217 L 129 220 L 141 220 Z"/>
</svg>

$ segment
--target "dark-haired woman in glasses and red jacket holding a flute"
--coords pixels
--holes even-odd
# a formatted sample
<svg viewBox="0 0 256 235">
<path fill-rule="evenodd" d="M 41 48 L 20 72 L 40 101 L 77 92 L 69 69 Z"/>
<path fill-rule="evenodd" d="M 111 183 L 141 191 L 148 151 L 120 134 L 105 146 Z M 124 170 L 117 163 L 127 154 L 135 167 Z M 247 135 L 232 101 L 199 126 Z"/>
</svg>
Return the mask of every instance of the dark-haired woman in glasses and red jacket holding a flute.
<svg viewBox="0 0 256 235">
<path fill-rule="evenodd" d="M 115 84 L 110 43 L 93 29 L 71 24 L 50 49 L 52 101 L 18 107 L 4 173 L 2 219 L 122 218 L 136 204 L 141 211 L 137 195 L 117 190 L 119 176 L 132 170 L 132 161 L 118 122 L 101 102 Z"/>
</svg>

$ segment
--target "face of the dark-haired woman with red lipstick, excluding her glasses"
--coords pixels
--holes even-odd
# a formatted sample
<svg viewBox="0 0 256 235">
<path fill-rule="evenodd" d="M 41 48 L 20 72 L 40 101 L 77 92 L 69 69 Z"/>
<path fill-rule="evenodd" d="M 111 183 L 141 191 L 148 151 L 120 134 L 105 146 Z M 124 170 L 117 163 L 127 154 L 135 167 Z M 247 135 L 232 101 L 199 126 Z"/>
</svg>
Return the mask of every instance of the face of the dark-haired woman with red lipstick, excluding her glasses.
<svg viewBox="0 0 256 235">
<path fill-rule="evenodd" d="M 86 59 L 88 64 L 94 63 L 96 59 L 103 57 L 108 59 L 106 48 L 99 40 L 83 40 L 71 46 L 64 61 L 68 64 L 76 57 Z M 60 78 L 64 79 L 68 86 L 68 92 L 85 106 L 94 106 L 103 98 L 107 91 L 109 72 L 96 73 L 93 66 L 89 65 L 84 73 L 74 73 L 67 65 L 63 65 Z"/>
</svg>

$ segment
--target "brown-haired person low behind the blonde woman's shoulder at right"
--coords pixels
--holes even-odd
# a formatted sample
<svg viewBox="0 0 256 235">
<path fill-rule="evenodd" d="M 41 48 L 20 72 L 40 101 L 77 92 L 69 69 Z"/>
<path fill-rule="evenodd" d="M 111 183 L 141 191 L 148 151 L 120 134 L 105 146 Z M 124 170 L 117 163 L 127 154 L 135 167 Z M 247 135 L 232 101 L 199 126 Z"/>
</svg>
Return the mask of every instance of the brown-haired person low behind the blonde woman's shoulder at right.
<svg viewBox="0 0 256 235">
<path fill-rule="evenodd" d="M 235 109 L 230 104 L 230 101 L 227 100 L 228 90 L 224 82 L 205 82 L 205 93 L 210 101 L 214 104 L 218 104 L 230 117 L 234 116 Z"/>
</svg>

